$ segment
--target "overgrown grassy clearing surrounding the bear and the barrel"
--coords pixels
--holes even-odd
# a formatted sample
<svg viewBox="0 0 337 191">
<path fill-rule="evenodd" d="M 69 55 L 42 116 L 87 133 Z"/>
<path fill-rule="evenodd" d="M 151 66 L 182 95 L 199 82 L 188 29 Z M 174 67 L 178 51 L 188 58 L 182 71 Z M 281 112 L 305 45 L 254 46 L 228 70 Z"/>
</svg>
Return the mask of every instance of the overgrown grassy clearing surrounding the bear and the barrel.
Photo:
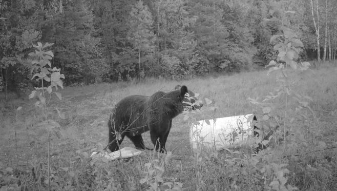
<svg viewBox="0 0 337 191">
<path fill-rule="evenodd" d="M 303 78 L 292 72 L 288 75 L 297 79 L 294 89 L 299 94 L 312 98 L 309 107 L 314 113 L 292 105 L 284 116 L 284 97 L 268 102 L 285 119 L 286 127 L 280 128 L 289 132 L 285 144 L 276 142 L 256 156 L 247 148 L 193 152 L 188 122 L 181 114 L 173 120 L 167 139 L 166 148 L 173 157 L 165 165 L 161 164 L 165 155 L 153 151 L 127 161 L 91 160 L 93 150 L 107 145 L 110 109 L 119 100 L 167 92 L 179 84 L 199 93 L 199 100 L 213 101 L 195 116 L 198 120 L 252 112 L 260 120 L 262 109 L 247 99 L 262 101 L 279 87 L 275 75 L 253 71 L 186 81 L 148 79 L 61 89 L 62 100 L 54 96 L 49 103 L 50 118 L 60 124 L 50 138 L 51 190 L 290 190 L 291 186 L 337 190 L 337 148 L 333 148 L 337 146 L 337 68 L 326 65 L 313 71 Z M 12 97 L 0 97 L 0 190 L 46 190 L 47 130 L 38 125 L 36 100 Z M 17 111 L 19 106 L 23 109 Z M 207 111 L 210 106 L 216 111 Z M 64 112 L 66 119 L 59 119 L 54 108 Z M 149 132 L 144 134 L 146 146 L 153 147 Z M 282 138 L 281 132 L 276 135 Z M 133 144 L 125 139 L 122 147 L 127 146 Z"/>
</svg>

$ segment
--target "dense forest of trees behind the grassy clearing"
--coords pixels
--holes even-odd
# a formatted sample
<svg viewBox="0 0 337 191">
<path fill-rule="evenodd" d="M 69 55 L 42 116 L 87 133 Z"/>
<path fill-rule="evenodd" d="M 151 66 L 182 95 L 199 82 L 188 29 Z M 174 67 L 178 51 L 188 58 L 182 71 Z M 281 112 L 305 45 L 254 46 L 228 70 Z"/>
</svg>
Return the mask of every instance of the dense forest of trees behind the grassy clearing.
<svg viewBox="0 0 337 191">
<path fill-rule="evenodd" d="M 0 0 L 0 90 L 34 85 L 28 53 L 37 42 L 54 44 L 52 66 L 63 71 L 66 86 L 251 71 L 277 58 L 270 37 L 282 25 L 303 42 L 297 61 L 334 60 L 336 6 L 332 0 Z"/>
</svg>

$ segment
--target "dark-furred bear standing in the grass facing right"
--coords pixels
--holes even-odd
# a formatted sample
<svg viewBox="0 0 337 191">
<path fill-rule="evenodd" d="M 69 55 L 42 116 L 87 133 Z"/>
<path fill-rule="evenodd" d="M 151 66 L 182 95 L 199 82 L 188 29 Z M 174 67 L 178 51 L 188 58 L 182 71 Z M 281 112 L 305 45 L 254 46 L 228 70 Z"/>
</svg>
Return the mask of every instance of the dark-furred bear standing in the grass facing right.
<svg viewBox="0 0 337 191">
<path fill-rule="evenodd" d="M 150 130 L 151 141 L 155 149 L 166 152 L 165 144 L 172 126 L 172 119 L 183 111 L 183 100 L 187 87 L 162 92 L 158 91 L 151 97 L 144 95 L 130 95 L 116 104 L 110 115 L 109 143 L 111 151 L 119 149 L 125 136 L 127 136 L 140 149 L 149 149 L 144 146 L 141 136 Z M 117 135 L 117 140 L 116 139 Z M 111 143 L 114 141 L 113 143 Z M 157 142 L 158 141 L 158 142 Z"/>
</svg>

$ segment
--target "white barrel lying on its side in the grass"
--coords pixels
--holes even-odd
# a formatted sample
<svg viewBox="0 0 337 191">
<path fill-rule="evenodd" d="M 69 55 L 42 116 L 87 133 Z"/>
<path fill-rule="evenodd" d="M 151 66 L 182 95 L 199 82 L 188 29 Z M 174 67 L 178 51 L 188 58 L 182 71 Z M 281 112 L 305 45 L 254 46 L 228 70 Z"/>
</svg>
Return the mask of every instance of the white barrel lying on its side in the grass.
<svg viewBox="0 0 337 191">
<path fill-rule="evenodd" d="M 254 114 L 201 120 L 193 123 L 189 130 L 192 148 L 233 148 L 254 144 L 252 139 Z M 209 124 L 207 124 L 209 122 Z"/>
</svg>

